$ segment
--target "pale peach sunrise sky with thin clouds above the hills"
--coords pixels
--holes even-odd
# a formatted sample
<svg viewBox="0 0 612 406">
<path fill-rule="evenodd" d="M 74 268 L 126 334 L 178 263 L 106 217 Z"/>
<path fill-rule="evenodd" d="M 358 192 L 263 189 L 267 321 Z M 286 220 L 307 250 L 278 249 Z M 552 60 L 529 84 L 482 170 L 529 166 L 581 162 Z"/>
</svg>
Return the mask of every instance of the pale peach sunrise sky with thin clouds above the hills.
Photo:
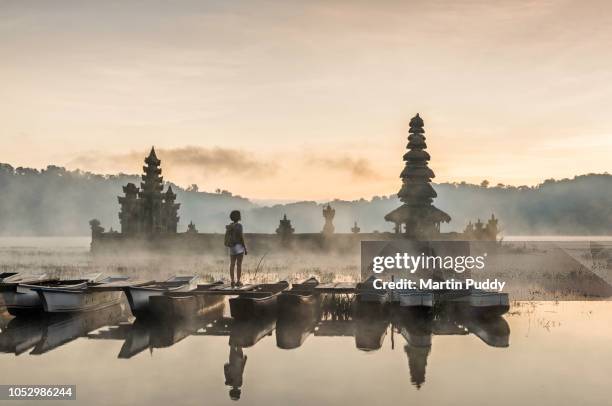
<svg viewBox="0 0 612 406">
<path fill-rule="evenodd" d="M 612 3 L 0 0 L 0 162 L 257 199 L 612 169 Z"/>
</svg>

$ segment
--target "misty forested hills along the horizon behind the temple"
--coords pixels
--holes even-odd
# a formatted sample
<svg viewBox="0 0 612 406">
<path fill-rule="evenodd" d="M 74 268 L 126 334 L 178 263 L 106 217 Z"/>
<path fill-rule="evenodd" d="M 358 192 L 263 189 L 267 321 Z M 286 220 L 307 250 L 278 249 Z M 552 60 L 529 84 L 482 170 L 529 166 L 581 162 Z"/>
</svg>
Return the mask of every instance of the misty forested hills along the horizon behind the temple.
<svg viewBox="0 0 612 406">
<path fill-rule="evenodd" d="M 52 165 L 39 171 L 0 164 L 0 235 L 88 235 L 92 218 L 107 229 L 118 229 L 117 196 L 128 182 L 139 184 L 140 177 L 67 171 Z M 274 232 L 283 214 L 297 232 L 318 232 L 323 226 L 322 205 L 316 202 L 259 206 L 227 191 L 172 187 L 181 203 L 179 231 L 193 220 L 201 232 L 223 232 L 232 209 L 243 212 L 249 232 Z M 438 192 L 435 205 L 453 218 L 444 231 L 461 231 L 469 220 L 485 220 L 495 213 L 507 235 L 612 234 L 609 174 L 549 179 L 534 187 L 442 183 L 434 188 Z M 391 195 L 331 204 L 336 209 L 336 231 L 348 232 L 357 221 L 365 232 L 391 230 L 383 216 L 400 202 Z"/>
</svg>

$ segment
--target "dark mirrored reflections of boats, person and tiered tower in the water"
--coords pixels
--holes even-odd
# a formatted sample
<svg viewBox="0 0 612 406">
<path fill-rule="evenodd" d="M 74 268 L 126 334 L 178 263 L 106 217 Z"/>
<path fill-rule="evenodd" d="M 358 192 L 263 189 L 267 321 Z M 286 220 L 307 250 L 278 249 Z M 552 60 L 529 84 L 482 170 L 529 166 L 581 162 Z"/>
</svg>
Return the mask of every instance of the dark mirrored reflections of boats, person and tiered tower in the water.
<svg viewBox="0 0 612 406">
<path fill-rule="evenodd" d="M 156 349 L 172 347 L 190 336 L 201 337 L 202 345 L 206 336 L 226 336 L 228 357 L 219 365 L 219 374 L 224 374 L 230 398 L 237 400 L 243 376 L 249 373 L 248 348 L 268 336 L 275 336 L 276 346 L 283 350 L 299 348 L 309 338 L 354 337 L 357 350 L 375 352 L 387 339 L 393 349 L 403 348 L 410 382 L 420 388 L 427 377 L 432 338 L 468 334 L 491 347 L 509 346 L 510 328 L 501 316 L 481 319 L 447 309 L 419 313 L 393 307 L 359 308 L 346 298 L 325 295 L 300 315 L 280 312 L 246 321 L 228 317 L 225 301 L 203 317 L 163 323 L 134 320 L 124 304 L 89 313 L 14 318 L 2 328 L 0 352 L 41 355 L 85 337 L 123 341 L 117 356 L 130 359 L 143 351 L 153 355 Z"/>
</svg>

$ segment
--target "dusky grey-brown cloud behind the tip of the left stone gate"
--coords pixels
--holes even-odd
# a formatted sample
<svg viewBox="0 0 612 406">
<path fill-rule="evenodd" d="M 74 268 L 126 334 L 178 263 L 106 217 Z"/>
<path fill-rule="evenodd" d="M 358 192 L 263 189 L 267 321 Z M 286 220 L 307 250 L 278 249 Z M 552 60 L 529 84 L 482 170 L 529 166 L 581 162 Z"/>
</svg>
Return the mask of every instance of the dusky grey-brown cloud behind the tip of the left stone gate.
<svg viewBox="0 0 612 406">
<path fill-rule="evenodd" d="M 173 169 L 199 169 L 212 173 L 224 174 L 267 174 L 274 173 L 277 166 L 264 162 L 251 154 L 232 148 L 202 148 L 186 146 L 180 148 L 156 148 L 157 157 L 162 161 L 162 167 Z M 70 167 L 80 169 L 115 169 L 126 170 L 141 163 L 148 151 L 132 151 L 125 154 L 105 154 L 88 152 L 81 154 L 68 163 Z"/>
</svg>

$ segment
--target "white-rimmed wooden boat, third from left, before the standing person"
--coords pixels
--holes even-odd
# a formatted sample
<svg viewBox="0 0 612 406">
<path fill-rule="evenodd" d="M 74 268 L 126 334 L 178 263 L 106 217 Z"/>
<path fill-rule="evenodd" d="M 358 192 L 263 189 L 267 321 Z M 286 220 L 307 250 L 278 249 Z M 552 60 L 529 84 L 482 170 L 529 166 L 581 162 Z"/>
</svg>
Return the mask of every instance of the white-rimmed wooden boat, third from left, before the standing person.
<svg viewBox="0 0 612 406">
<path fill-rule="evenodd" d="M 163 282 L 150 282 L 139 286 L 128 286 L 125 288 L 130 309 L 135 317 L 150 316 L 150 298 L 163 296 L 168 292 L 185 292 L 196 287 L 198 277 L 173 276 Z"/>
</svg>

